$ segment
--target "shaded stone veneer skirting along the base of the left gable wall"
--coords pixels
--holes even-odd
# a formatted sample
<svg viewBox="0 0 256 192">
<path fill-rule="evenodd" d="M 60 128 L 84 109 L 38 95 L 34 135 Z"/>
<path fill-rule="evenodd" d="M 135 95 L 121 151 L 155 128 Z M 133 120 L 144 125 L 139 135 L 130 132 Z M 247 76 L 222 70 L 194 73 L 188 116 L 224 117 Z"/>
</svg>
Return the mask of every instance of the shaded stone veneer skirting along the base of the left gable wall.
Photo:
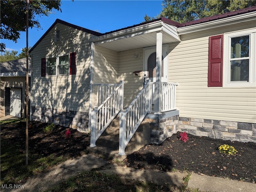
<svg viewBox="0 0 256 192">
<path fill-rule="evenodd" d="M 31 120 L 45 123 L 54 123 L 77 129 L 80 132 L 89 133 L 89 114 L 88 112 L 66 111 L 60 109 L 50 109 L 44 107 L 31 107 Z"/>
</svg>

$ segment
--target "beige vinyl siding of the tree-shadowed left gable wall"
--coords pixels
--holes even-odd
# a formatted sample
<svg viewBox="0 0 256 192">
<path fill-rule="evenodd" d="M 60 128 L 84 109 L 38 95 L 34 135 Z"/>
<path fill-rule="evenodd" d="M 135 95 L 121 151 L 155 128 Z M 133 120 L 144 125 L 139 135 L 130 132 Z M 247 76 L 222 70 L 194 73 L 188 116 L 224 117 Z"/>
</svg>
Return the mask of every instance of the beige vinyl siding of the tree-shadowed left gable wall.
<svg viewBox="0 0 256 192">
<path fill-rule="evenodd" d="M 56 24 L 60 42 L 54 42 L 54 28 L 32 51 L 31 106 L 70 111 L 88 111 L 90 91 L 90 42 L 92 36 Z M 41 59 L 76 52 L 76 74 L 41 77 Z M 37 55 L 35 57 L 34 55 Z"/>
</svg>

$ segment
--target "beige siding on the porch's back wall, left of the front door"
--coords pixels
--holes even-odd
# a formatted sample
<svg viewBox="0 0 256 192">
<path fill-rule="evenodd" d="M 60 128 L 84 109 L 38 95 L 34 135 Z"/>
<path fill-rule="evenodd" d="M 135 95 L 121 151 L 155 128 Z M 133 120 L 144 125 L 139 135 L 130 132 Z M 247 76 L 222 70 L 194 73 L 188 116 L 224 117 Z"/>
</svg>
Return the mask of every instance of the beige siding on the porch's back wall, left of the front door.
<svg viewBox="0 0 256 192">
<path fill-rule="evenodd" d="M 134 53 L 140 57 L 134 58 Z M 143 77 L 134 76 L 134 71 L 143 71 L 143 49 L 119 52 L 119 78 L 124 81 L 124 108 L 128 107 L 143 87 Z"/>
</svg>

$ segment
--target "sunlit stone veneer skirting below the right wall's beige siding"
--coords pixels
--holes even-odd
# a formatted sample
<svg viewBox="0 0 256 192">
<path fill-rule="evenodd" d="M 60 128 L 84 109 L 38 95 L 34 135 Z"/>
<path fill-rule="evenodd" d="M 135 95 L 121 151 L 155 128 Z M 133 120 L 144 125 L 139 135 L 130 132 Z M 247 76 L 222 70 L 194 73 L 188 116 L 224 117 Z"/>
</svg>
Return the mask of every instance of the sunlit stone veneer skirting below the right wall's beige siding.
<svg viewBox="0 0 256 192">
<path fill-rule="evenodd" d="M 178 131 L 196 136 L 256 143 L 256 124 L 179 117 Z"/>
</svg>

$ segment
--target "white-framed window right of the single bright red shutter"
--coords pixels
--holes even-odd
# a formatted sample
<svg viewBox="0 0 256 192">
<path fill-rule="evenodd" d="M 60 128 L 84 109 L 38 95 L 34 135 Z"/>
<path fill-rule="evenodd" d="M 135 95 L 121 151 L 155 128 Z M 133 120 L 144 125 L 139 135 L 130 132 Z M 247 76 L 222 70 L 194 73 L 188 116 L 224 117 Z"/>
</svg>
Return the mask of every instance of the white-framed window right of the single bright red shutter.
<svg viewBox="0 0 256 192">
<path fill-rule="evenodd" d="M 256 29 L 224 35 L 224 86 L 256 85 Z"/>
</svg>

